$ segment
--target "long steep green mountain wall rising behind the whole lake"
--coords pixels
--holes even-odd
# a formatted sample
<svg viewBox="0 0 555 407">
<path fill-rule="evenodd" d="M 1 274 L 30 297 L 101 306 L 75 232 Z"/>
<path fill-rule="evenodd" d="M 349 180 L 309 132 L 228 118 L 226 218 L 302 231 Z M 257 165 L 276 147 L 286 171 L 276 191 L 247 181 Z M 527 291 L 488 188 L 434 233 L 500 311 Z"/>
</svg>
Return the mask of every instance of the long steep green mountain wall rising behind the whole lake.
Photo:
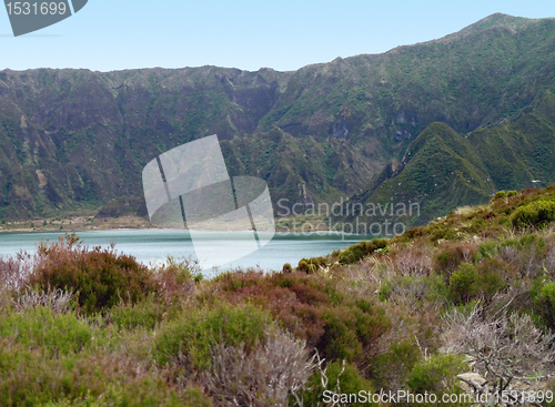
<svg viewBox="0 0 555 407">
<path fill-rule="evenodd" d="M 214 133 L 230 173 L 262 176 L 274 200 L 291 205 L 383 194 L 380 185 L 400 175 L 384 172 L 387 163 L 403 162 L 434 122 L 482 146 L 473 152 L 478 161 L 455 160 L 456 171 L 470 165 L 492 181 L 477 194 L 442 195 L 430 216 L 526 186 L 531 176 L 555 181 L 554 50 L 553 19 L 494 14 L 440 40 L 296 72 L 6 70 L 0 217 L 139 202 L 147 162 Z M 421 139 L 440 145 L 447 133 Z M 514 154 L 518 165 L 508 171 Z"/>
</svg>

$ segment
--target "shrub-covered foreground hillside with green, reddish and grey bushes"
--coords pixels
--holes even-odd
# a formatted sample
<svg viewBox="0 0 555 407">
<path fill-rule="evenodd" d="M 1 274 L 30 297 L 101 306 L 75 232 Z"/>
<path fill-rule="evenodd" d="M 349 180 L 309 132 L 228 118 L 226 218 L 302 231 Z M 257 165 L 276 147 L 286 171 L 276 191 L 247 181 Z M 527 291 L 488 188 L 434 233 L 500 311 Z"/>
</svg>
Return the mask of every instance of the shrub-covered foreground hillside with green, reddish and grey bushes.
<svg viewBox="0 0 555 407">
<path fill-rule="evenodd" d="M 393 240 L 212 279 L 74 235 L 46 242 L 0 262 L 0 405 L 362 406 L 325 391 L 487 389 L 555 406 L 554 221 L 555 185 L 501 191 Z"/>
</svg>

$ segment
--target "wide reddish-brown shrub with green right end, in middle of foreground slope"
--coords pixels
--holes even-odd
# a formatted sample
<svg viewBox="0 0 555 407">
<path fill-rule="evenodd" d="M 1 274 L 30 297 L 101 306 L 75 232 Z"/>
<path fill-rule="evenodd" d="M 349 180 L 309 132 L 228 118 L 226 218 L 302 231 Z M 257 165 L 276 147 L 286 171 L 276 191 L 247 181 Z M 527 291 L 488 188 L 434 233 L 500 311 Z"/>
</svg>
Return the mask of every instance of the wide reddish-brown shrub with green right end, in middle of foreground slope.
<svg viewBox="0 0 555 407">
<path fill-rule="evenodd" d="M 234 273 L 216 277 L 233 304 L 268 309 L 281 326 L 326 360 L 356 360 L 390 329 L 381 304 L 345 295 L 336 278 L 302 273 Z M 220 294 L 222 296 L 222 294 Z"/>
</svg>

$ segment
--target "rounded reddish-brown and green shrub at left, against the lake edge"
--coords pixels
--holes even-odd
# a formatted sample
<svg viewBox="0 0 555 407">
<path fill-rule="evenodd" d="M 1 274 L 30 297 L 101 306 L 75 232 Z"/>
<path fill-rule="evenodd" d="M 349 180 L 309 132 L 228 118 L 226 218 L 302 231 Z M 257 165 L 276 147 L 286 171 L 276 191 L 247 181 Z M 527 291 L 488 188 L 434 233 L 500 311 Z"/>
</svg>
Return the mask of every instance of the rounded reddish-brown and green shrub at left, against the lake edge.
<svg viewBox="0 0 555 407">
<path fill-rule="evenodd" d="M 121 301 L 137 303 L 158 288 L 149 269 L 134 257 L 118 255 L 113 247 L 88 250 L 75 235 L 51 245 L 42 242 L 38 258 L 29 285 L 42 291 L 71 289 L 85 314 L 105 311 Z"/>
</svg>

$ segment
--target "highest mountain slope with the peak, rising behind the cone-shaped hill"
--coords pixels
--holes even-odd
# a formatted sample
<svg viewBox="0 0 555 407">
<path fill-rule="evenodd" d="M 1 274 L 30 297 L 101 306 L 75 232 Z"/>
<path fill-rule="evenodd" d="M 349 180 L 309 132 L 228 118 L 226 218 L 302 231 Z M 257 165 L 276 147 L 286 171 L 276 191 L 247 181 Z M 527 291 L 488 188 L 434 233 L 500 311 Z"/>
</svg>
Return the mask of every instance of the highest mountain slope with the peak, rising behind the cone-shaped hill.
<svg viewBox="0 0 555 407">
<path fill-rule="evenodd" d="M 496 125 L 553 89 L 554 45 L 553 19 L 494 14 L 441 40 L 305 67 L 261 128 L 406 145 L 434 121 Z"/>
</svg>

